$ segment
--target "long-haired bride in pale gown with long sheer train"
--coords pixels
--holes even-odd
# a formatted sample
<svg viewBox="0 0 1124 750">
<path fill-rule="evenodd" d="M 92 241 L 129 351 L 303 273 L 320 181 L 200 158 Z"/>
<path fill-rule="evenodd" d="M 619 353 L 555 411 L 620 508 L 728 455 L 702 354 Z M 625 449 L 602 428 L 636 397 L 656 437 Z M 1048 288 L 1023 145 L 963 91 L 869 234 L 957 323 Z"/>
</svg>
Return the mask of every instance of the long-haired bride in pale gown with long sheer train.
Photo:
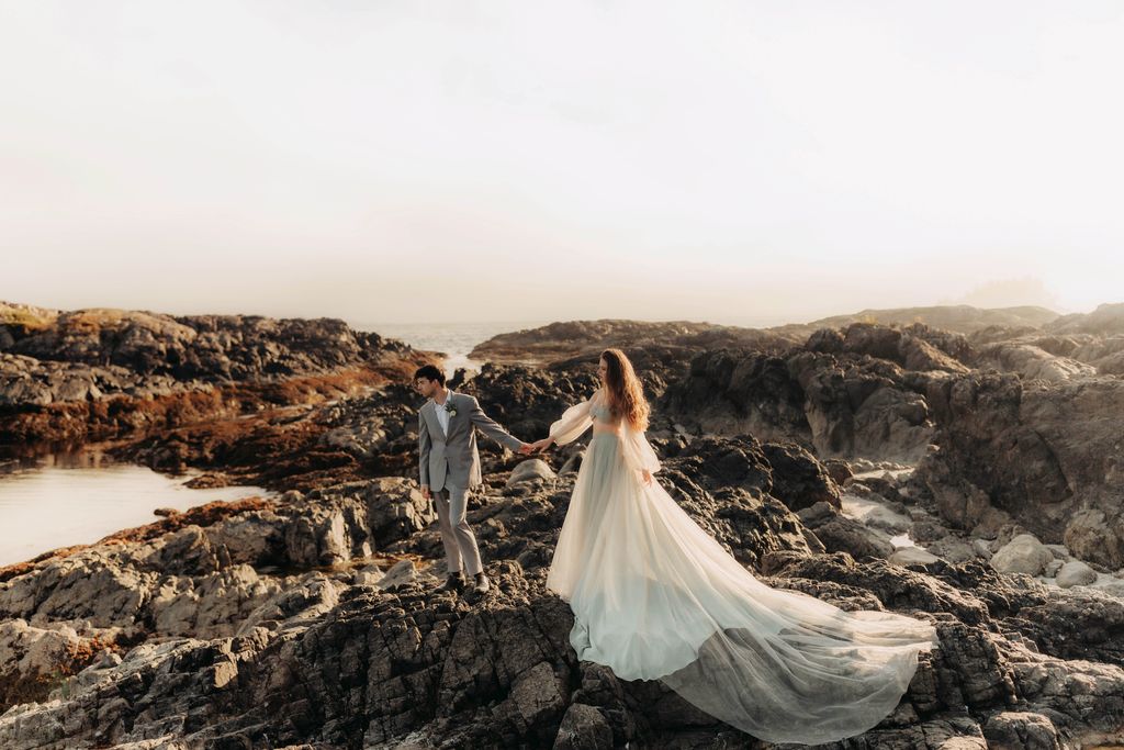
<svg viewBox="0 0 1124 750">
<path fill-rule="evenodd" d="M 570 603 L 578 658 L 623 679 L 660 679 L 770 742 L 860 734 L 897 706 L 927 622 L 853 612 L 759 581 L 653 479 L 649 406 L 632 363 L 601 353 L 601 387 L 533 446 L 593 433 L 546 587 Z"/>
</svg>

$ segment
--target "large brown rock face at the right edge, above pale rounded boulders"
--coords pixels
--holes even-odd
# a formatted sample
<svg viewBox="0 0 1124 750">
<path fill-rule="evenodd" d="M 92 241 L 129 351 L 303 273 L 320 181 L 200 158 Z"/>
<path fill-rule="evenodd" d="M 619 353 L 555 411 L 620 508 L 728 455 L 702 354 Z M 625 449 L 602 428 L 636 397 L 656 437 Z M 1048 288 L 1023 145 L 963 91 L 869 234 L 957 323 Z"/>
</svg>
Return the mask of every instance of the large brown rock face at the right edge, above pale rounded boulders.
<svg viewBox="0 0 1124 750">
<path fill-rule="evenodd" d="M 933 389 L 940 451 L 918 467 L 941 514 L 994 536 L 1015 519 L 1050 543 L 1124 566 L 1124 380 L 959 379 Z"/>
</svg>

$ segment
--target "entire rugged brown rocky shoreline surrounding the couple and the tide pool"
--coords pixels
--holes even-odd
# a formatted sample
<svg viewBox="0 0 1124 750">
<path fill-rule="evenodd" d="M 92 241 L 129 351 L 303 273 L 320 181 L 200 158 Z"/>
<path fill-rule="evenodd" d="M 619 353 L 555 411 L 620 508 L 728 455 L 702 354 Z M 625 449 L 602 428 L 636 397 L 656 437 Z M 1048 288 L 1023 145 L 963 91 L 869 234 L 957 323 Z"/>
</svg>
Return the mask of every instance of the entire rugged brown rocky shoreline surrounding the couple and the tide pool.
<svg viewBox="0 0 1124 750">
<path fill-rule="evenodd" d="M 544 582 L 580 443 L 523 460 L 482 442 L 469 517 L 496 585 L 430 593 L 441 542 L 405 385 L 427 353 L 330 320 L 4 310 L 0 445 L 111 439 L 280 494 L 0 569 L 0 747 L 771 747 L 577 661 Z M 1108 748 L 1124 306 L 1032 313 L 945 313 L 964 331 L 555 324 L 500 342 L 523 363 L 455 385 L 537 437 L 619 345 L 645 372 L 659 480 L 754 575 L 936 624 L 898 710 L 826 747 Z"/>
</svg>

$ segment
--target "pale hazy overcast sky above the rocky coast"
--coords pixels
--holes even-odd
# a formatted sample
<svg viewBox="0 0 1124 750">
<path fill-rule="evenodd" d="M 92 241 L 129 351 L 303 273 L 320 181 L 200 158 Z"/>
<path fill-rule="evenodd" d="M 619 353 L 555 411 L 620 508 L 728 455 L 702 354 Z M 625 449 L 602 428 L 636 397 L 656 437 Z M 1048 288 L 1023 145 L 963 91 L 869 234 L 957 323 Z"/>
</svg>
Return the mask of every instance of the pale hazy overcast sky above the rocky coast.
<svg viewBox="0 0 1124 750">
<path fill-rule="evenodd" d="M 1124 3 L 0 0 L 0 299 L 1124 300 Z"/>
</svg>

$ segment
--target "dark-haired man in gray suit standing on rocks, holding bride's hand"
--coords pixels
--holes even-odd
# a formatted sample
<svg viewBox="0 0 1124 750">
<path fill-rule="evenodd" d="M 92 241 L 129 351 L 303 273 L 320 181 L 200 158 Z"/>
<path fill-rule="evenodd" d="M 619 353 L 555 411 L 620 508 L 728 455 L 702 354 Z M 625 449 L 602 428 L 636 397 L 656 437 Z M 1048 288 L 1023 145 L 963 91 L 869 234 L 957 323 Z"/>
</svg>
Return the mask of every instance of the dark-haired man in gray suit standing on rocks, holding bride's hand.
<svg viewBox="0 0 1124 750">
<path fill-rule="evenodd" d="M 465 518 L 469 493 L 483 484 L 475 430 L 513 451 L 529 454 L 532 448 L 488 417 L 474 397 L 446 389 L 445 373 L 437 367 L 419 368 L 414 382 L 429 399 L 418 410 L 418 469 L 422 494 L 433 498 L 445 543 L 448 579 L 437 590 L 464 589 L 463 561 L 468 573 L 475 577 L 473 591 L 483 594 L 490 584 L 480 562 L 477 537 Z"/>
</svg>

